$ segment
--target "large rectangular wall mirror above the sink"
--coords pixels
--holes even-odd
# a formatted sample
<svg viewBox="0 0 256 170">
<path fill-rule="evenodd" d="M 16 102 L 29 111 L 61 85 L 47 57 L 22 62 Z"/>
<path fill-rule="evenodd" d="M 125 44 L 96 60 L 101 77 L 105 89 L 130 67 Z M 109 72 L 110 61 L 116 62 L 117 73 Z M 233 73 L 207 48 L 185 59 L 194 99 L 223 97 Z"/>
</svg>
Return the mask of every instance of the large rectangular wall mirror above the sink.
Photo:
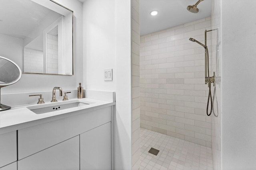
<svg viewBox="0 0 256 170">
<path fill-rule="evenodd" d="M 73 18 L 53 0 L 0 0 L 0 45 L 23 73 L 73 75 Z"/>
</svg>

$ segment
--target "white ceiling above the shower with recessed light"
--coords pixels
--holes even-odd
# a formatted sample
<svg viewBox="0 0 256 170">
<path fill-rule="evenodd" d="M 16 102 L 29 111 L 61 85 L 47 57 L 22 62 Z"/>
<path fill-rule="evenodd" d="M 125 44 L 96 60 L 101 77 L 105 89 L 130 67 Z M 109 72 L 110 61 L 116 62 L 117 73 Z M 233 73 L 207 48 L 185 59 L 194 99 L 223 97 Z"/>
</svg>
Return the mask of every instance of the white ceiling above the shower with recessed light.
<svg viewBox="0 0 256 170">
<path fill-rule="evenodd" d="M 200 20 L 211 15 L 212 0 L 204 0 L 198 4 L 199 12 L 191 13 L 188 5 L 198 0 L 140 0 L 140 35 L 146 35 L 184 23 Z M 150 12 L 157 10 L 156 16 Z"/>
</svg>

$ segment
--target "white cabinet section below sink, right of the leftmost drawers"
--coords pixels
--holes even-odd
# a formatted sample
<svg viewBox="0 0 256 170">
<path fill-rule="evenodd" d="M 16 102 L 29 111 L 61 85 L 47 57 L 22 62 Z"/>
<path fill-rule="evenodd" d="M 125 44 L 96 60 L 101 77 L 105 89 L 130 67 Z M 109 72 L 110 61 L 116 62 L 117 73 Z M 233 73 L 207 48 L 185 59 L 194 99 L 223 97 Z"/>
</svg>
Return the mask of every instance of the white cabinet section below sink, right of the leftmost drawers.
<svg viewBox="0 0 256 170">
<path fill-rule="evenodd" d="M 18 130 L 18 170 L 111 169 L 112 115 L 112 106 L 79 110 Z"/>
</svg>

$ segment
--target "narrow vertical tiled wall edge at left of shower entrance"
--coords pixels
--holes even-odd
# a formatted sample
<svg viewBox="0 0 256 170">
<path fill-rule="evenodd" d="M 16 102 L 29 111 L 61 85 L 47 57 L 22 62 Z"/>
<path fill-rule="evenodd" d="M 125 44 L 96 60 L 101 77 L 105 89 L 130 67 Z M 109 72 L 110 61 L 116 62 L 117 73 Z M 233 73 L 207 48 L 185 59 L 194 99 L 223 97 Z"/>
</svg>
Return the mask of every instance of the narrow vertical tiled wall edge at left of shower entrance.
<svg viewBox="0 0 256 170">
<path fill-rule="evenodd" d="M 131 1 L 132 27 L 132 170 L 140 169 L 140 14 L 139 0 Z"/>
</svg>

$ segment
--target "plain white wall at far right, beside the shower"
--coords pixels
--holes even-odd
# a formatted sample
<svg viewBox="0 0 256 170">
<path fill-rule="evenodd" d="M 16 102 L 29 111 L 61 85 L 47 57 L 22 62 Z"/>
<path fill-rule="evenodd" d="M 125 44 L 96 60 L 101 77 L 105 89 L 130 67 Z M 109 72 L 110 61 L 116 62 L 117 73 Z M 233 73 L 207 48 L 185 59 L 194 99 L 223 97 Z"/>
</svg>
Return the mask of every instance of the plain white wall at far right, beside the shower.
<svg viewBox="0 0 256 170">
<path fill-rule="evenodd" d="M 256 1 L 221 3 L 222 169 L 251 170 L 256 168 Z"/>
</svg>

